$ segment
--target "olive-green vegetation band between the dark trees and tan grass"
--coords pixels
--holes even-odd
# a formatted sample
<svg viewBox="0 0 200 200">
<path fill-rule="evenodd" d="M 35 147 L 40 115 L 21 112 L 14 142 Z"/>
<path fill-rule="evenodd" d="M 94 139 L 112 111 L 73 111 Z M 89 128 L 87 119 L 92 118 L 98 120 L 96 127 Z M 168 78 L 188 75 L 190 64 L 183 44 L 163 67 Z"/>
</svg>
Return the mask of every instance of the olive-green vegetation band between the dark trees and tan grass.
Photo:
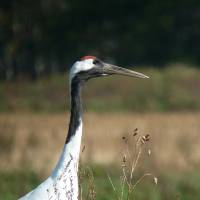
<svg viewBox="0 0 200 200">
<path fill-rule="evenodd" d="M 104 77 L 83 92 L 87 111 L 172 111 L 200 109 L 200 70 L 183 65 L 137 68 L 150 79 Z M 63 112 L 69 108 L 66 74 L 35 82 L 1 82 L 0 112 Z"/>
</svg>

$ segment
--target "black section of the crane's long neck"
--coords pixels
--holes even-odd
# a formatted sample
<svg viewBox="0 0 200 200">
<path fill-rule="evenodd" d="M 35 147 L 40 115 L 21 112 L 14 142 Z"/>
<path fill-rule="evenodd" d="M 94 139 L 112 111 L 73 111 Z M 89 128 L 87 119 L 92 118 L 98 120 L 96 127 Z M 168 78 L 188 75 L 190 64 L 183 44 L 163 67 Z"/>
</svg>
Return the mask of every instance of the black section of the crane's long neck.
<svg viewBox="0 0 200 200">
<path fill-rule="evenodd" d="M 80 79 L 79 75 L 76 75 L 71 80 L 71 116 L 69 123 L 69 131 L 66 139 L 66 144 L 70 141 L 72 136 L 75 135 L 81 123 L 82 116 L 82 104 L 81 104 L 81 87 L 83 80 Z"/>
</svg>

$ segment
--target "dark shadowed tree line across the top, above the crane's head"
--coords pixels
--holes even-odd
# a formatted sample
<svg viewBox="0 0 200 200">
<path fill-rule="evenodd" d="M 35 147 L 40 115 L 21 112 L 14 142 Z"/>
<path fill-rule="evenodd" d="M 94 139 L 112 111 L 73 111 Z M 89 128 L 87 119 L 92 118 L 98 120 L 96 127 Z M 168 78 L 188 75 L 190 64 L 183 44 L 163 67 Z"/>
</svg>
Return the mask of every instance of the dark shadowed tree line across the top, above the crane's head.
<svg viewBox="0 0 200 200">
<path fill-rule="evenodd" d="M 0 79 L 63 72 L 86 54 L 198 65 L 199 13 L 198 0 L 1 0 Z"/>
</svg>

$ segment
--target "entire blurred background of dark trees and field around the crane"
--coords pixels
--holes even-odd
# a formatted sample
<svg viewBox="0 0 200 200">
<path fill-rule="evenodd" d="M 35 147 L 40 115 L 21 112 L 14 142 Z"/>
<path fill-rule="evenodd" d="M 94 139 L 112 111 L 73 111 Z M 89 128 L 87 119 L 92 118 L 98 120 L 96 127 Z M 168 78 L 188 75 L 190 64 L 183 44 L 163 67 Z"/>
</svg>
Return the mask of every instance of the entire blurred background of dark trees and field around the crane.
<svg viewBox="0 0 200 200">
<path fill-rule="evenodd" d="M 199 199 L 197 0 L 1 0 L 0 199 L 17 199 L 54 168 L 68 130 L 68 70 L 84 55 L 151 77 L 83 89 L 81 163 L 93 170 L 96 199 L 115 199 L 106 174 L 119 183 L 122 137 L 135 128 L 151 136 L 135 176 L 151 172 L 158 185 L 147 178 L 134 198 Z"/>
</svg>

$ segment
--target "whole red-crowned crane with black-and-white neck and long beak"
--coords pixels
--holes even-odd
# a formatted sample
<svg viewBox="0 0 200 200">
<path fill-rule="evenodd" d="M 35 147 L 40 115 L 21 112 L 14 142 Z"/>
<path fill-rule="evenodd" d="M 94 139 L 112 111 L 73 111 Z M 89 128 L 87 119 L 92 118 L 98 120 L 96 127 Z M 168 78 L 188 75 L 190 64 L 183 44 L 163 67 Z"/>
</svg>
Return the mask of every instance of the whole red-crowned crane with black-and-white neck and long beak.
<svg viewBox="0 0 200 200">
<path fill-rule="evenodd" d="M 51 176 L 21 200 L 78 199 L 78 163 L 83 125 L 81 88 L 91 78 L 112 74 L 148 78 L 142 73 L 104 63 L 94 56 L 84 56 L 74 63 L 69 76 L 71 116 L 61 157 Z"/>
</svg>

